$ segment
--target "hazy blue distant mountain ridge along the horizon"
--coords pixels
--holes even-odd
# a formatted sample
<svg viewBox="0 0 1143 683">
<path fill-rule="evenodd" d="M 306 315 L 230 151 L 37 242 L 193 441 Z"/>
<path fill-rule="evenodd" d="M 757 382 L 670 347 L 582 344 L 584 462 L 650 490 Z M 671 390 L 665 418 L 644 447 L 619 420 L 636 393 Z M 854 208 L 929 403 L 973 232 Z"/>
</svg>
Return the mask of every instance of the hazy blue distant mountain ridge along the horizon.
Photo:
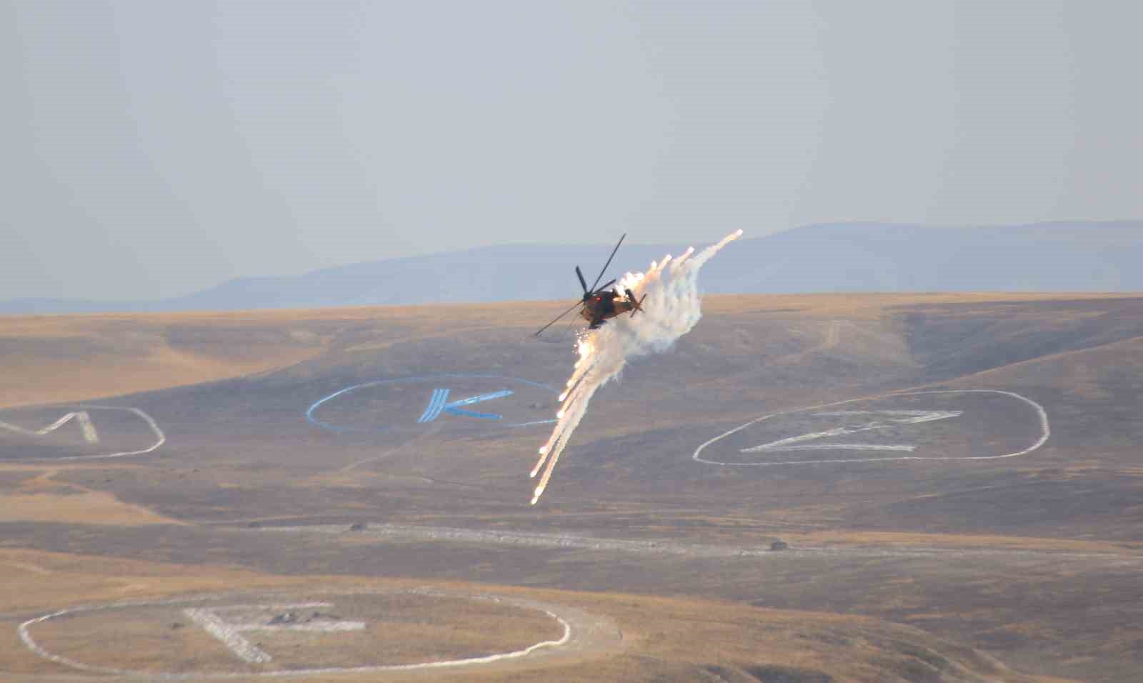
<svg viewBox="0 0 1143 683">
<path fill-rule="evenodd" d="M 705 244 L 695 243 L 696 248 Z M 608 280 L 685 244 L 624 244 Z M 574 267 L 594 278 L 612 246 L 507 244 L 238 278 L 152 302 L 13 299 L 0 313 L 160 312 L 568 299 Z M 710 294 L 1143 291 L 1143 220 L 1001 227 L 820 224 L 745 238 L 700 275 Z"/>
</svg>

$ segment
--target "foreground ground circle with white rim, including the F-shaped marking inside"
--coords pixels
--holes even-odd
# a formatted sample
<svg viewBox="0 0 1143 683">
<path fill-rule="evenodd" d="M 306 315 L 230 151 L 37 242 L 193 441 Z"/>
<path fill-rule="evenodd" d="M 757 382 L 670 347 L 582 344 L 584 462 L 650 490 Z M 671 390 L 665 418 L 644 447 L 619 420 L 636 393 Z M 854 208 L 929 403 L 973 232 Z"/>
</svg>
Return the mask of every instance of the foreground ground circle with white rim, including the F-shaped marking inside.
<svg viewBox="0 0 1143 683">
<path fill-rule="evenodd" d="M 370 605 L 370 601 L 378 604 Z M 439 614 L 418 616 L 417 601 L 451 602 L 454 609 L 443 610 Z M 371 617 L 370 609 L 376 612 Z M 419 609 L 433 609 L 433 605 Z M 440 605 L 435 609 L 440 609 Z M 536 629 L 547 621 L 552 626 L 544 628 L 551 630 L 554 637 L 528 644 L 521 643 L 522 646 L 501 652 L 481 651 L 489 640 L 505 637 L 497 629 L 488 628 L 487 614 L 480 612 L 489 610 L 497 610 L 495 618 L 503 619 L 502 626 L 505 628 Z M 89 653 L 85 657 L 86 661 L 81 661 L 70 652 L 83 648 L 95 648 L 95 651 L 99 652 L 97 645 L 83 643 L 82 640 L 94 637 L 93 634 L 105 633 L 106 629 L 85 628 L 86 625 L 80 621 L 85 617 L 105 619 L 117 612 L 119 617 L 115 624 L 120 630 L 117 637 L 127 635 L 121 632 L 125 624 L 131 621 L 127 625 L 127 630 L 134 629 L 144 634 L 143 637 L 149 640 L 146 645 L 152 645 L 151 649 L 161 651 L 161 656 L 165 657 L 179 658 L 184 666 L 200 668 L 198 670 L 118 668 L 103 662 L 93 662 L 95 654 Z M 466 612 L 472 613 L 466 617 Z M 513 613 L 517 616 L 512 617 Z M 528 617 L 528 613 L 531 617 Z M 472 622 L 466 624 L 466 618 Z M 178 632 L 185 634 L 179 636 L 182 638 L 179 642 L 166 642 L 171 640 L 169 634 L 174 633 L 169 630 L 175 628 L 175 625 L 170 624 L 171 620 L 179 624 Z M 521 620 L 528 624 L 520 626 Z M 480 626 L 477 626 L 477 621 Z M 535 624 L 531 624 L 533 621 Z M 17 630 L 21 640 L 32 652 L 73 669 L 93 674 L 185 680 L 407 672 L 530 659 L 575 645 L 590 649 L 589 641 L 593 638 L 598 641 L 598 632 L 604 621 L 606 619 L 592 617 L 574 608 L 503 595 L 438 589 L 315 588 L 289 593 L 254 590 L 167 601 L 81 605 L 29 619 L 21 624 Z M 54 625 L 61 625 L 57 628 L 58 633 L 50 633 Z M 69 628 L 71 630 L 66 630 Z M 40 632 L 39 635 L 33 637 L 33 629 Z M 457 642 L 434 644 L 421 637 L 443 632 L 454 634 L 450 637 Z M 584 634 L 589 632 L 596 635 L 585 637 Z M 386 637 L 376 637 L 377 634 L 385 634 Z M 531 630 L 528 635 L 535 637 L 536 634 Z M 352 642 L 352 638 L 360 642 Z M 618 640 L 617 632 L 615 640 Z M 193 643 L 187 644 L 190 641 Z M 145 659 L 149 656 L 146 651 L 139 654 L 141 644 L 133 643 L 135 649 L 133 656 L 136 659 Z M 309 648 L 311 654 L 318 652 L 317 659 L 322 661 L 307 664 L 304 660 L 310 654 L 304 650 L 299 654 L 297 648 Z M 376 657 L 378 651 L 387 651 L 397 659 L 401 657 L 407 659 L 416 654 L 417 648 L 446 652 L 449 649 L 477 651 L 469 652 L 467 656 L 446 656 L 398 664 L 377 661 L 338 666 L 329 662 L 331 658 L 352 658 L 354 653 Z M 410 649 L 413 654 L 409 653 Z M 392 654 L 394 652 L 399 654 Z M 120 656 L 127 654 L 127 652 L 120 653 Z M 111 653 L 106 656 L 114 657 Z M 219 661 L 224 664 L 219 665 Z M 218 670 L 219 667 L 227 666 L 229 670 Z"/>
</svg>

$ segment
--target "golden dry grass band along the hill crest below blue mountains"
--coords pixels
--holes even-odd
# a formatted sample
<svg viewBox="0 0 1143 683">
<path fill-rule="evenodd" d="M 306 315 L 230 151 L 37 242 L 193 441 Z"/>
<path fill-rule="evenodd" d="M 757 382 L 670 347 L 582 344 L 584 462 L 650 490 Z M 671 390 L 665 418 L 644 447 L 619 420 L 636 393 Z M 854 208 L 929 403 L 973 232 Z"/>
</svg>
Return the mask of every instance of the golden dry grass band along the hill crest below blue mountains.
<svg viewBox="0 0 1143 683">
<path fill-rule="evenodd" d="M 878 320 L 902 306 L 1104 300 L 1128 295 L 720 295 L 709 315 Z M 379 351 L 463 332 L 530 329 L 553 302 L 329 310 L 0 316 L 0 408 L 155 391 L 283 368 L 336 348 Z M 446 321 L 442 326 L 442 321 Z M 493 322 L 495 321 L 495 322 Z M 362 329 L 362 326 L 369 329 Z M 799 356 L 800 359 L 801 356 Z"/>
</svg>

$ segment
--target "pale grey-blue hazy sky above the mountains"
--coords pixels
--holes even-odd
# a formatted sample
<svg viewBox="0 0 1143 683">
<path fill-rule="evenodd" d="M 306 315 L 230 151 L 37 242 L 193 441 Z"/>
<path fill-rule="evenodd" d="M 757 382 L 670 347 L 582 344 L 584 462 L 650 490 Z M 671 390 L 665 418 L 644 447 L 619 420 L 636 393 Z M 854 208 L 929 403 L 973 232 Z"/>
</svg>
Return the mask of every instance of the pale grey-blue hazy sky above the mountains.
<svg viewBox="0 0 1143 683">
<path fill-rule="evenodd" d="M 7 0 L 0 299 L 1143 217 L 1143 3 Z"/>
</svg>

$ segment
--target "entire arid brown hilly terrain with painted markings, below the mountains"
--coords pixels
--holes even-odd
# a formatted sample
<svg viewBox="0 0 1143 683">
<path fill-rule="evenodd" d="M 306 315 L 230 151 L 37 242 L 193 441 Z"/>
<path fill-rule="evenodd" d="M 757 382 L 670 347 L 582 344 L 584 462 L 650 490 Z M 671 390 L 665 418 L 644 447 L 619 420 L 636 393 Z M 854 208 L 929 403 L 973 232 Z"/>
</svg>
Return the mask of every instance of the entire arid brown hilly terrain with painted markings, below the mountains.
<svg viewBox="0 0 1143 683">
<path fill-rule="evenodd" d="M 553 310 L 0 318 L 0 677 L 1140 680 L 1143 298 Z"/>
</svg>

